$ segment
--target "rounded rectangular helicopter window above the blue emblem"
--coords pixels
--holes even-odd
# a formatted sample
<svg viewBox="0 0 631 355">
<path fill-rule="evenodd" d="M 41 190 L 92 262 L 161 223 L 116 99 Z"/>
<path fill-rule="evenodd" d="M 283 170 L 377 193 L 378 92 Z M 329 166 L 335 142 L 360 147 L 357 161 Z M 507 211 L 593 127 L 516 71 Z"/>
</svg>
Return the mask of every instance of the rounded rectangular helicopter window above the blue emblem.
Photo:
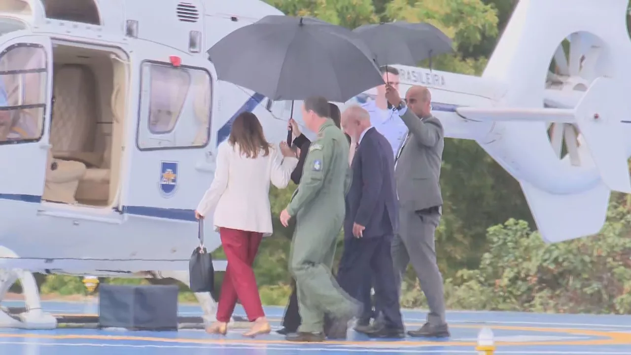
<svg viewBox="0 0 631 355">
<path fill-rule="evenodd" d="M 138 147 L 204 147 L 209 140 L 211 77 L 204 69 L 145 62 Z"/>
</svg>

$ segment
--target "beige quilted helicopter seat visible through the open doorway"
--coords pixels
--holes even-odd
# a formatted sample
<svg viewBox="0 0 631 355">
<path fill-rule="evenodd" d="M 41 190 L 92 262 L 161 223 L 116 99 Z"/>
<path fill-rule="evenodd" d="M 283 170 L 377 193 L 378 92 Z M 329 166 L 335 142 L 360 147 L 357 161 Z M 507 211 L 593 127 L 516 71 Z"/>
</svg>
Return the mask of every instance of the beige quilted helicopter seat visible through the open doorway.
<svg viewBox="0 0 631 355">
<path fill-rule="evenodd" d="M 50 121 L 50 151 L 54 158 L 50 164 L 56 162 L 57 169 L 52 171 L 49 164 L 46 179 L 48 191 L 45 191 L 45 195 L 62 195 L 64 198 L 45 199 L 74 203 L 75 198 L 81 198 L 81 191 L 78 191 L 81 190 L 81 185 L 96 181 L 105 184 L 107 193 L 103 200 L 107 200 L 109 169 L 102 169 L 103 150 L 98 151 L 96 142 L 96 126 L 100 111 L 97 110 L 95 76 L 88 67 L 75 64 L 55 68 L 54 73 L 54 102 Z M 80 169 L 80 164 L 83 169 Z M 83 172 L 80 174 L 80 171 Z M 71 179 L 71 176 L 76 181 L 65 181 Z M 64 182 L 60 183 L 60 179 Z M 88 186 L 87 190 L 93 188 L 94 186 Z M 53 191 L 55 189 L 60 191 Z M 94 193 L 88 191 L 92 195 L 90 200 L 98 200 L 98 197 L 101 197 L 98 196 L 98 186 L 96 190 Z M 70 195 L 72 198 L 69 198 Z"/>
</svg>

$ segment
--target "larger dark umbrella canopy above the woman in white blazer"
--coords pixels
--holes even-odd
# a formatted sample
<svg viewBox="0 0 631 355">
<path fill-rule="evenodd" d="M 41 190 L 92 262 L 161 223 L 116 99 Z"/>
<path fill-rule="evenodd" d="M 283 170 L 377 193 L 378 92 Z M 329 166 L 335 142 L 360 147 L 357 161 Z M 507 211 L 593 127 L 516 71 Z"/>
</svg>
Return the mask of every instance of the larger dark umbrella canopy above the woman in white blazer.
<svg viewBox="0 0 631 355">
<path fill-rule="evenodd" d="M 271 15 L 208 50 L 219 80 L 272 100 L 321 95 L 345 102 L 384 84 L 374 54 L 355 33 L 314 18 Z"/>
</svg>

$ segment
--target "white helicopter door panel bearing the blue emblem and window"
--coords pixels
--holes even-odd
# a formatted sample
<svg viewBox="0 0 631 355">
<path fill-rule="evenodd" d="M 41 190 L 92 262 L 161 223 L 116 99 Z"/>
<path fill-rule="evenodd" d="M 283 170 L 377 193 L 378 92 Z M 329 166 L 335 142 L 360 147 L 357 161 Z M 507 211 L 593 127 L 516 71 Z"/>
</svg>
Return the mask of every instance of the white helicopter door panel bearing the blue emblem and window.
<svg viewBox="0 0 631 355">
<path fill-rule="evenodd" d="M 150 44 L 143 49 L 132 61 L 138 66 L 133 68 L 138 119 L 128 126 L 136 134 L 129 135 L 134 141 L 128 143 L 121 210 L 127 217 L 194 221 L 215 172 L 213 75 L 201 56 L 180 58 Z"/>
</svg>

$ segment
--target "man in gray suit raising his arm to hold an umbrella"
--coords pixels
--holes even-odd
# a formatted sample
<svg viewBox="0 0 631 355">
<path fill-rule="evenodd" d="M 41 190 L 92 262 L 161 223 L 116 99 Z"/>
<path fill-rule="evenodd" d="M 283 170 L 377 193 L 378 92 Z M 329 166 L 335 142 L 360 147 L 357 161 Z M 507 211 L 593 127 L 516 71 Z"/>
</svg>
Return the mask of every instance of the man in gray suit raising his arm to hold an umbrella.
<svg viewBox="0 0 631 355">
<path fill-rule="evenodd" d="M 411 87 L 406 99 L 401 100 L 399 92 L 387 85 L 386 99 L 408 127 L 394 165 L 400 210 L 399 234 L 392 241 L 392 260 L 398 271 L 398 289 L 400 292 L 401 278 L 411 262 L 430 308 L 427 323 L 408 335 L 449 337 L 434 239 L 442 208 L 439 184 L 445 144 L 442 124 L 432 116 L 432 95 L 426 87 Z"/>
</svg>

